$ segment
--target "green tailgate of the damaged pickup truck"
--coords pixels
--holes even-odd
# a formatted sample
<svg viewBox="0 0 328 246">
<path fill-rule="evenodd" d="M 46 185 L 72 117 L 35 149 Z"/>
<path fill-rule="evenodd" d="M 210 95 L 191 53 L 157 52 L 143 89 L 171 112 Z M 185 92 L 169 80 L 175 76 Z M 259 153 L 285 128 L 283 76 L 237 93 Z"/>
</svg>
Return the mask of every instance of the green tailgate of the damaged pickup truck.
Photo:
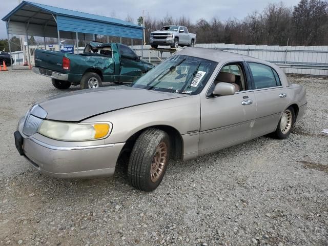
<svg viewBox="0 0 328 246">
<path fill-rule="evenodd" d="M 35 67 L 63 72 L 64 53 L 49 50 L 35 50 Z"/>
</svg>

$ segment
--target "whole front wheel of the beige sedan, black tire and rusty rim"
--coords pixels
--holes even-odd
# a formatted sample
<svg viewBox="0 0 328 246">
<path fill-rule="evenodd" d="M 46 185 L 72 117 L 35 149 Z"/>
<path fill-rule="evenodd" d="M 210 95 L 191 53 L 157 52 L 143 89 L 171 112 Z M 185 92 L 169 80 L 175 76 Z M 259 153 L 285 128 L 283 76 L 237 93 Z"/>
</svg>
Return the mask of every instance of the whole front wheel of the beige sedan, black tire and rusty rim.
<svg viewBox="0 0 328 246">
<path fill-rule="evenodd" d="M 169 156 L 170 138 L 166 132 L 155 128 L 142 132 L 129 158 L 131 185 L 141 191 L 155 190 L 163 179 Z"/>
</svg>

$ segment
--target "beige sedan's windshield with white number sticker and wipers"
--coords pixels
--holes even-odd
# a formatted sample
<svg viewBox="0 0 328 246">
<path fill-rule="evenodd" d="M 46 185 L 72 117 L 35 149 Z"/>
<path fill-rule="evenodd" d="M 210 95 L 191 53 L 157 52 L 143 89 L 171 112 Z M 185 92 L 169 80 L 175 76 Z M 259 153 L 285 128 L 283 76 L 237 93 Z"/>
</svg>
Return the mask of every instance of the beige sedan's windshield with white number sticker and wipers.
<svg viewBox="0 0 328 246">
<path fill-rule="evenodd" d="M 217 66 L 215 61 L 175 55 L 132 83 L 131 87 L 183 94 L 198 94 Z"/>
</svg>

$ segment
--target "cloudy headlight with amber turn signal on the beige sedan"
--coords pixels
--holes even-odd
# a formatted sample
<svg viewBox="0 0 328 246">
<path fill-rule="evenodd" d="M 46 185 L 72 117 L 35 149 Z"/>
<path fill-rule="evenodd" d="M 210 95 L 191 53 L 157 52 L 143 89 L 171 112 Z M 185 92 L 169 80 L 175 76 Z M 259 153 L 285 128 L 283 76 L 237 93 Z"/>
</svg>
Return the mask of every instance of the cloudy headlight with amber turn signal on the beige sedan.
<svg viewBox="0 0 328 246">
<path fill-rule="evenodd" d="M 84 124 L 44 120 L 38 133 L 56 140 L 87 141 L 106 137 L 111 130 L 108 123 Z"/>
</svg>

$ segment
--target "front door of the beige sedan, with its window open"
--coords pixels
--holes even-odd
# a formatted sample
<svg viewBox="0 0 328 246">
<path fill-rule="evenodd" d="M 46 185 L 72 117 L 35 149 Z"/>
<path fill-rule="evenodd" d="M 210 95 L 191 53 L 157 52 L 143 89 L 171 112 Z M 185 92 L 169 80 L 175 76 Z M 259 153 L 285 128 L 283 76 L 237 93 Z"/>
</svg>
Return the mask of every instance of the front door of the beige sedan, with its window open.
<svg viewBox="0 0 328 246">
<path fill-rule="evenodd" d="M 201 99 L 199 155 L 251 138 L 256 101 L 253 91 L 249 89 L 243 66 L 242 62 L 224 66 L 211 86 L 208 96 Z M 230 76 L 221 76 L 222 72 Z M 215 84 L 220 82 L 233 83 L 239 91 L 234 95 L 211 97 Z"/>
</svg>

